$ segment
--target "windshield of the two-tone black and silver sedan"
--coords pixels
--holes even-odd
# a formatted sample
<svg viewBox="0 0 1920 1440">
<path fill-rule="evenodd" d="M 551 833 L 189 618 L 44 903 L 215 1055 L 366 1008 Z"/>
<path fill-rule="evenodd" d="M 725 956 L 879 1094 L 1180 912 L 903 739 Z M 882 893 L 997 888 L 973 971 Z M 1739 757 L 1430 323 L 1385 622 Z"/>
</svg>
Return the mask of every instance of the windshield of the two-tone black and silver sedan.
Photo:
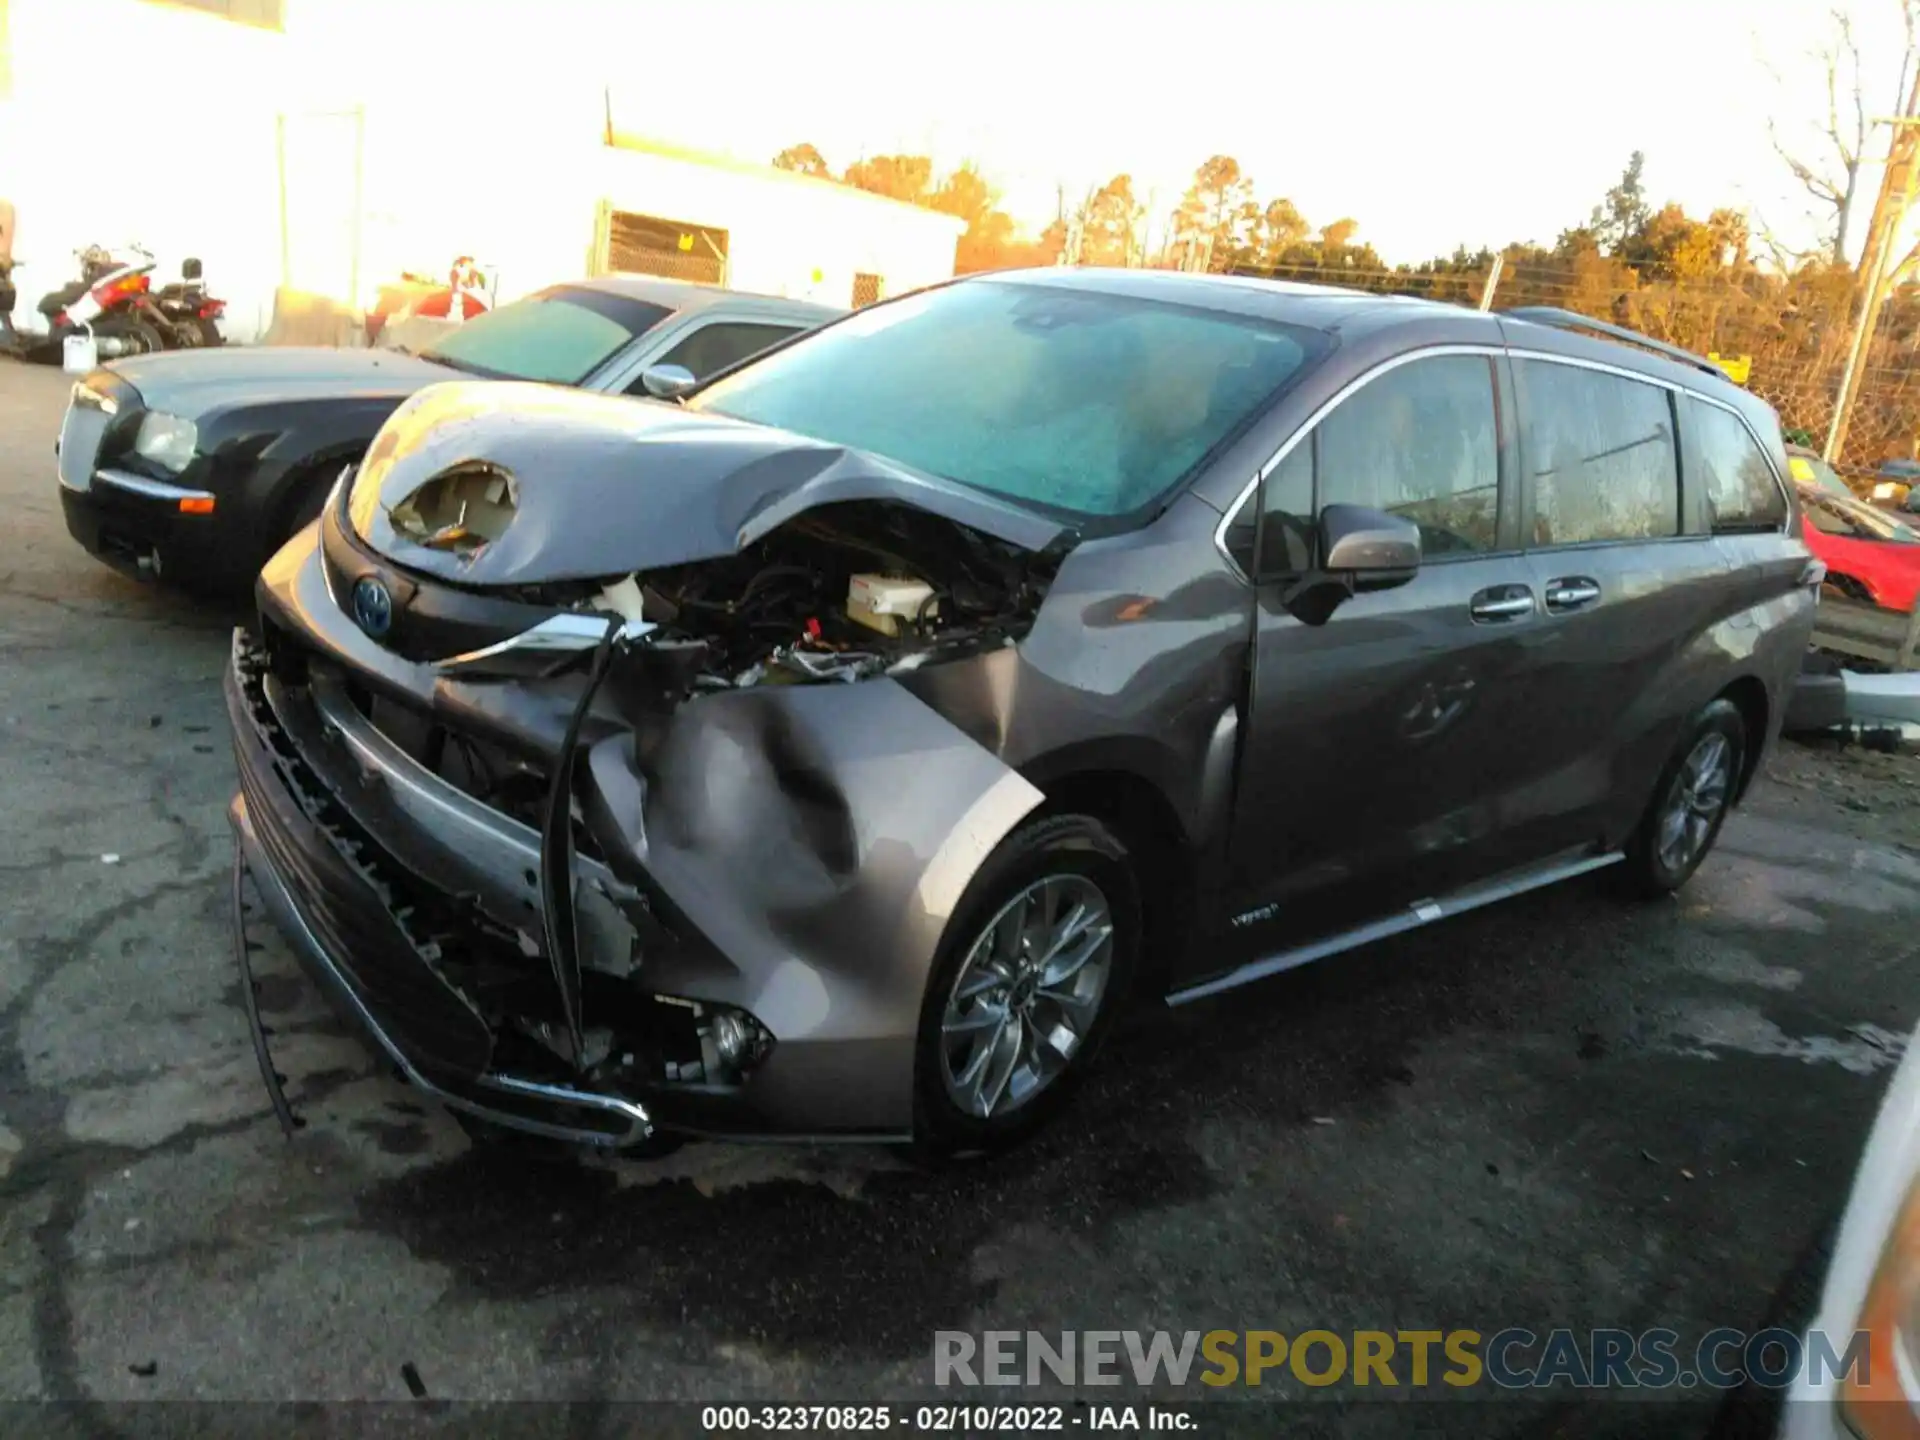
<svg viewBox="0 0 1920 1440">
<path fill-rule="evenodd" d="M 576 386 L 668 315 L 660 305 L 605 290 L 555 286 L 476 315 L 420 355 L 493 380 Z"/>
</svg>

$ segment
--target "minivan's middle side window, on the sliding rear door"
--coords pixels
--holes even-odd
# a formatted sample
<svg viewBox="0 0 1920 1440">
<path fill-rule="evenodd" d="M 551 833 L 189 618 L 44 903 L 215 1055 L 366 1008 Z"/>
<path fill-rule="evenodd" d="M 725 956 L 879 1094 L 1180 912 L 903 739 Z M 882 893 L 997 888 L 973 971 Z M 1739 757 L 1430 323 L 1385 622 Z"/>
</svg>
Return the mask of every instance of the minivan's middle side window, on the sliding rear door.
<svg viewBox="0 0 1920 1440">
<path fill-rule="evenodd" d="M 1680 534 L 1680 461 L 1667 390 L 1517 359 L 1534 545 Z"/>
</svg>

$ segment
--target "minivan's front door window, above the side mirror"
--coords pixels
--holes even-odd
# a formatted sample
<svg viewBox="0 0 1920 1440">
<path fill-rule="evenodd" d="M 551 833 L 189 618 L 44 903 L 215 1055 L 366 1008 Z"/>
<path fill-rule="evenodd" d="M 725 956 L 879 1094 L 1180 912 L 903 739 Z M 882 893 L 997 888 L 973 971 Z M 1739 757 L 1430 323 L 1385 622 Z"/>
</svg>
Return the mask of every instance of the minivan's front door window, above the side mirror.
<svg viewBox="0 0 1920 1440">
<path fill-rule="evenodd" d="M 1421 528 L 1427 555 L 1494 549 L 1500 444 L 1480 355 L 1400 365 L 1321 420 L 1319 505 L 1369 505 Z"/>
</svg>

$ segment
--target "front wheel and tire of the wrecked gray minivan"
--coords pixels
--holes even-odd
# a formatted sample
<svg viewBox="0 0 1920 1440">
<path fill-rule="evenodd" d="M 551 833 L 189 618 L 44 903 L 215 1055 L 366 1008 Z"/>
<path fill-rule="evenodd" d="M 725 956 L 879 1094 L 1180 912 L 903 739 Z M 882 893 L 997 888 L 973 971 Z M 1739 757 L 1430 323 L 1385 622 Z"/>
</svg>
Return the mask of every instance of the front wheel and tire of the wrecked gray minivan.
<svg viewBox="0 0 1920 1440">
<path fill-rule="evenodd" d="M 1060 814 L 1016 829 L 941 939 L 914 1052 L 924 1154 L 1006 1148 L 1085 1075 L 1140 954 L 1140 891 L 1106 824 Z"/>
</svg>

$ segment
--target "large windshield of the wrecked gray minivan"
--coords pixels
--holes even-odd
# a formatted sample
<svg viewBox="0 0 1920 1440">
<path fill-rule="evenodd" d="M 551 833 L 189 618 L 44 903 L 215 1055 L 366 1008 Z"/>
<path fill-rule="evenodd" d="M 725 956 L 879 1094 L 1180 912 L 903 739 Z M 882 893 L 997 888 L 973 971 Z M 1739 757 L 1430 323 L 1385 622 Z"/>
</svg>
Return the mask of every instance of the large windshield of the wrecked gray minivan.
<svg viewBox="0 0 1920 1440">
<path fill-rule="evenodd" d="M 689 403 L 1112 518 L 1179 486 L 1319 344 L 1238 315 L 968 280 L 831 324 Z"/>
</svg>

